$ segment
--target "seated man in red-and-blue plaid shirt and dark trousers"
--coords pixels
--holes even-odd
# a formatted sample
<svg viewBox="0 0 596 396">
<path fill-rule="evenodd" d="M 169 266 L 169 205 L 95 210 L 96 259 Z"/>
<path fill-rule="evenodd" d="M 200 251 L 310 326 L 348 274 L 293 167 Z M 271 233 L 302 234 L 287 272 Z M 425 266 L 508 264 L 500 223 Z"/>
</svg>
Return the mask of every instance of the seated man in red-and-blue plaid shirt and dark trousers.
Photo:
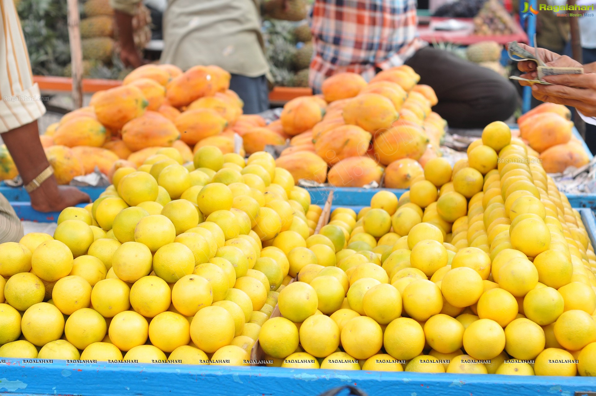
<svg viewBox="0 0 596 396">
<path fill-rule="evenodd" d="M 513 115 L 518 97 L 511 82 L 429 46 L 418 38 L 417 24 L 415 0 L 315 0 L 310 85 L 320 92 L 324 79 L 340 72 L 370 81 L 405 63 L 432 86 L 439 99 L 433 110 L 449 126 L 483 128 Z"/>
</svg>

